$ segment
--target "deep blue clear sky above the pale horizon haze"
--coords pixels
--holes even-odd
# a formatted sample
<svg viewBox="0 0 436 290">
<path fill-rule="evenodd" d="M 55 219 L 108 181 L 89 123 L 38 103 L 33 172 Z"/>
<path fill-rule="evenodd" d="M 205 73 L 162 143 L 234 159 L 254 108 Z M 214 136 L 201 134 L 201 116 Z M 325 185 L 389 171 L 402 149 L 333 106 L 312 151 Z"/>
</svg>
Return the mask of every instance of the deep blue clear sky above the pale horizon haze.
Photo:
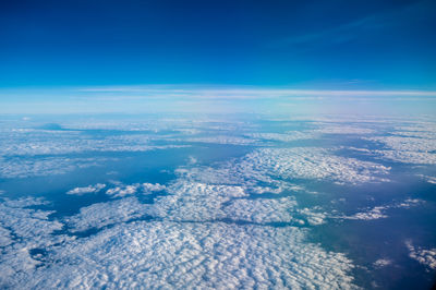
<svg viewBox="0 0 436 290">
<path fill-rule="evenodd" d="M 0 1 L 0 86 L 436 88 L 436 1 Z"/>
</svg>

